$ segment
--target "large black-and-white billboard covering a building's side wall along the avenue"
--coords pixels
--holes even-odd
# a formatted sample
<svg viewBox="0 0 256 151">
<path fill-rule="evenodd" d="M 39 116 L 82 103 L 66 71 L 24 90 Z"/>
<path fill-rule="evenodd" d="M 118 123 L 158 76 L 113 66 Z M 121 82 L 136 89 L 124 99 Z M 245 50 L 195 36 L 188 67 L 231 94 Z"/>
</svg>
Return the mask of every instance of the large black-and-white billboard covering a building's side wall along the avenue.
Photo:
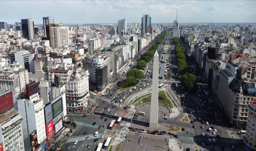
<svg viewBox="0 0 256 151">
<path fill-rule="evenodd" d="M 118 46 L 119 47 L 119 46 Z M 129 46 L 115 51 L 115 72 L 119 72 L 129 61 Z"/>
</svg>

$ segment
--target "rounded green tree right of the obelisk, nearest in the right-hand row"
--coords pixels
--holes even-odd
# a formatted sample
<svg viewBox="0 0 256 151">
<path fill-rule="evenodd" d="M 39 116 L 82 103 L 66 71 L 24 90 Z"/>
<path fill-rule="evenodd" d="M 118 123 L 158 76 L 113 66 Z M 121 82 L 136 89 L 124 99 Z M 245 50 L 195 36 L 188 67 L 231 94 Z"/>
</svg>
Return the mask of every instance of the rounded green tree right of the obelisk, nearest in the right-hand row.
<svg viewBox="0 0 256 151">
<path fill-rule="evenodd" d="M 180 76 L 180 83 L 185 90 L 190 91 L 196 83 L 196 76 L 190 73 L 184 74 Z"/>
</svg>

